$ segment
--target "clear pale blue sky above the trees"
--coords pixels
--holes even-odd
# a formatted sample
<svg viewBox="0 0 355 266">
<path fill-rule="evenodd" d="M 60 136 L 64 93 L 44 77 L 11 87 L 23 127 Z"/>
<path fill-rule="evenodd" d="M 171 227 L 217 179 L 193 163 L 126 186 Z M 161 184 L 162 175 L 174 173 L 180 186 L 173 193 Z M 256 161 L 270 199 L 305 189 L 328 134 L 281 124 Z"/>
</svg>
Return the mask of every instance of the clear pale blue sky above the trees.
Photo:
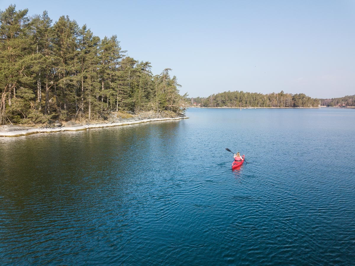
<svg viewBox="0 0 355 266">
<path fill-rule="evenodd" d="M 171 68 L 181 94 L 355 94 L 355 0 L 10 1 L 28 15 L 68 15 L 127 55 Z"/>
</svg>

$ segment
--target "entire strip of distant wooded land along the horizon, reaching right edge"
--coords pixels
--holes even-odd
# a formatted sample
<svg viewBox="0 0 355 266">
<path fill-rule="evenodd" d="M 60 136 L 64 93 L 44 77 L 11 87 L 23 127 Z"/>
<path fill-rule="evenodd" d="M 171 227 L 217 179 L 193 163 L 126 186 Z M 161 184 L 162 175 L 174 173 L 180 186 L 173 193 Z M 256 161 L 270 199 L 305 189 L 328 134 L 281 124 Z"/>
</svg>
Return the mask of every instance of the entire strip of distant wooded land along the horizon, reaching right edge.
<svg viewBox="0 0 355 266">
<path fill-rule="evenodd" d="M 333 99 L 315 99 L 304 93 L 251 93 L 243 91 L 228 91 L 212 94 L 208 97 L 187 98 L 190 105 L 197 107 L 229 107 L 229 108 L 316 108 L 355 107 L 355 95 Z"/>
</svg>

